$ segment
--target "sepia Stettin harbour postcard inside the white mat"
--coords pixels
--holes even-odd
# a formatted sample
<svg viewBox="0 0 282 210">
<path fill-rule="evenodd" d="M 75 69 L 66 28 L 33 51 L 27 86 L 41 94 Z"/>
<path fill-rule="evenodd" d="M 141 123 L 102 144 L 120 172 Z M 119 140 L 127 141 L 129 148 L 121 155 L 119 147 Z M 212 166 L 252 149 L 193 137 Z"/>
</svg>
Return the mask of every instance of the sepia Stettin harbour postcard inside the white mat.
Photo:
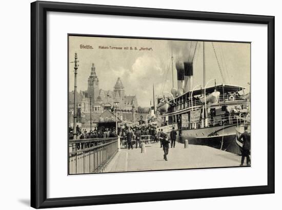
<svg viewBox="0 0 282 210">
<path fill-rule="evenodd" d="M 68 174 L 251 166 L 251 43 L 68 34 Z"/>
</svg>

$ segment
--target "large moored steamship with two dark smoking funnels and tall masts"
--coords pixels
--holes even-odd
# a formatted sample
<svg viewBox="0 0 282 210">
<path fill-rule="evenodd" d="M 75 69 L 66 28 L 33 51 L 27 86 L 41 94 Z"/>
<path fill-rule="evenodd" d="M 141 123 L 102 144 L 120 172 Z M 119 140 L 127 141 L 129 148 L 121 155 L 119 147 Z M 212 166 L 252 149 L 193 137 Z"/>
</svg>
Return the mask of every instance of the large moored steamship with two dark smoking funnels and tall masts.
<svg viewBox="0 0 282 210">
<path fill-rule="evenodd" d="M 189 144 L 207 145 L 240 154 L 236 143 L 238 128 L 250 124 L 250 94 L 246 88 L 230 84 L 216 84 L 215 79 L 206 82 L 205 45 L 203 43 L 203 84 L 193 86 L 193 60 L 177 61 L 177 89 L 159 97 L 157 116 L 161 119 L 165 132 L 172 127 L 177 130 L 177 141 Z M 212 43 L 213 45 L 213 43 Z M 216 53 L 216 51 L 214 51 Z M 217 56 L 215 55 L 217 59 Z M 172 78 L 173 78 L 173 56 Z M 219 62 L 218 66 L 219 66 Z M 220 66 L 219 66 L 220 70 Z M 221 74 L 222 75 L 222 74 Z M 224 81 L 224 80 L 223 80 Z M 168 96 L 166 96 L 168 95 Z M 166 128 L 166 129 L 165 129 Z"/>
</svg>

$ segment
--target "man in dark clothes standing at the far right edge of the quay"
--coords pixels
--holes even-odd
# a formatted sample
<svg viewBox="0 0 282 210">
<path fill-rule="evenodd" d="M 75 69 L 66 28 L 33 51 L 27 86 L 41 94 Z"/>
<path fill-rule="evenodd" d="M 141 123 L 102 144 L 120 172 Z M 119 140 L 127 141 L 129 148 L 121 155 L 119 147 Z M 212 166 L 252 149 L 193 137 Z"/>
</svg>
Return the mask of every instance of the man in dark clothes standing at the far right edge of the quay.
<svg viewBox="0 0 282 210">
<path fill-rule="evenodd" d="M 250 160 L 250 149 L 251 149 L 251 135 L 248 130 L 248 125 L 244 126 L 245 132 L 241 134 L 241 136 L 238 138 L 238 141 L 243 143 L 243 149 L 242 149 L 242 159 L 240 166 L 243 166 L 245 157 L 247 157 L 247 165 L 251 165 Z"/>
</svg>

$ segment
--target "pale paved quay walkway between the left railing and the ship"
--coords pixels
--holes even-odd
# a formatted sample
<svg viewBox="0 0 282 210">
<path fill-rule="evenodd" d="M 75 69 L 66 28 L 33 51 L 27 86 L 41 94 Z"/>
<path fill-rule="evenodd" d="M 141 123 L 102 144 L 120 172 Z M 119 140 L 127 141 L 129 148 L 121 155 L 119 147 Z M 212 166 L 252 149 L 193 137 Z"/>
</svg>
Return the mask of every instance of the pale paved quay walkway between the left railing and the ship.
<svg viewBox="0 0 282 210">
<path fill-rule="evenodd" d="M 159 143 L 146 144 L 146 153 L 141 149 L 121 149 L 109 172 L 166 170 L 239 166 L 241 157 L 227 151 L 209 146 L 189 145 L 176 142 L 175 148 L 169 148 L 168 161 L 165 161 L 163 148 Z"/>
</svg>

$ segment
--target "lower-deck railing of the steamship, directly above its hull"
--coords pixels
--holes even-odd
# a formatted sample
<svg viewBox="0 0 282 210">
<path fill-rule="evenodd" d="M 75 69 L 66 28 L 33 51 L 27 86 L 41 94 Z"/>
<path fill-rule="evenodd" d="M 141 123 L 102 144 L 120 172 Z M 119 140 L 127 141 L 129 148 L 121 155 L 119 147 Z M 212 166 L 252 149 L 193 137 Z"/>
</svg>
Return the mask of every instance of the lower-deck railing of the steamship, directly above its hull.
<svg viewBox="0 0 282 210">
<path fill-rule="evenodd" d="M 241 124 L 248 121 L 249 112 L 238 112 L 229 114 L 220 114 L 217 116 L 210 116 L 208 118 L 202 118 L 198 122 L 192 122 L 188 124 L 188 127 L 182 127 L 183 130 L 198 129 L 205 127 L 213 127 L 218 125 L 231 125 Z"/>
</svg>

